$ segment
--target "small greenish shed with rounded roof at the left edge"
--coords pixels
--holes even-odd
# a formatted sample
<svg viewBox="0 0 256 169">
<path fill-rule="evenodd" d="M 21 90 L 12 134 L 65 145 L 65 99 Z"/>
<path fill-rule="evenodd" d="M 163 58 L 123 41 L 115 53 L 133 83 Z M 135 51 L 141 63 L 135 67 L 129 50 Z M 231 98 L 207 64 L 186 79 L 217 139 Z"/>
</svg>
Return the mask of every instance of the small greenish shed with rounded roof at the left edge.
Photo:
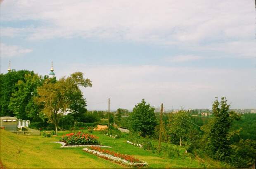
<svg viewBox="0 0 256 169">
<path fill-rule="evenodd" d="M 16 117 L 0 117 L 0 127 L 5 127 L 5 130 L 10 132 L 17 131 L 17 118 Z"/>
</svg>

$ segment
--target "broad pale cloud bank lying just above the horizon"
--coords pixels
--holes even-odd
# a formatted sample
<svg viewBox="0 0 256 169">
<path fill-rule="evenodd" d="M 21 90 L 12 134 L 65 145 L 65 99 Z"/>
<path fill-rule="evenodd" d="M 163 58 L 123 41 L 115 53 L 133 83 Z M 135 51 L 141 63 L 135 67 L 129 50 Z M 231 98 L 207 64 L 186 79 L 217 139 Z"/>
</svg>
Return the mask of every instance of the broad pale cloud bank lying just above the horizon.
<svg viewBox="0 0 256 169">
<path fill-rule="evenodd" d="M 163 102 L 166 108 L 208 108 L 215 96 L 227 97 L 233 108 L 254 105 L 253 69 L 83 64 L 55 67 L 58 77 L 76 71 L 85 72 L 85 77 L 92 80 L 92 88 L 83 89 L 88 109 L 107 109 L 108 98 L 111 110 L 132 109 L 142 98 L 153 106 Z"/>
</svg>

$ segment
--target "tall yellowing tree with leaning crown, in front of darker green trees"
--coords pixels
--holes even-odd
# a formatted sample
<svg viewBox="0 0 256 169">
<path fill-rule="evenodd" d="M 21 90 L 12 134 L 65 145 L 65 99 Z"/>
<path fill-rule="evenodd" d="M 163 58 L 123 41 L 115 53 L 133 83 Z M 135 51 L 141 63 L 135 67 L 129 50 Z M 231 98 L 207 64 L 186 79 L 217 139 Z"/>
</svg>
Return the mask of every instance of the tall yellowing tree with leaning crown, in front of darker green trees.
<svg viewBox="0 0 256 169">
<path fill-rule="evenodd" d="M 83 73 L 76 72 L 69 77 L 62 77 L 56 83 L 45 81 L 43 86 L 38 87 L 38 97 L 35 101 L 43 105 L 43 113 L 51 123 L 55 125 L 55 134 L 59 119 L 63 113 L 70 109 L 73 101 L 73 95 L 80 92 L 80 86 L 91 87 L 90 79 L 84 79 Z"/>
</svg>

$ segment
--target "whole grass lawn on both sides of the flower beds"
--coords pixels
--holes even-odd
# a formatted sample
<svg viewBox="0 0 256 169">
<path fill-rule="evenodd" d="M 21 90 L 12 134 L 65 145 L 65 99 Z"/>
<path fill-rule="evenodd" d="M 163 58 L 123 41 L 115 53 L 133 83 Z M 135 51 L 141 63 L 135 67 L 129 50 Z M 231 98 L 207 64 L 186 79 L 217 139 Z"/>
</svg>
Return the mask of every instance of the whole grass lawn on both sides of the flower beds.
<svg viewBox="0 0 256 169">
<path fill-rule="evenodd" d="M 121 168 L 123 166 L 104 160 L 78 148 L 60 148 L 61 144 L 51 143 L 59 141 L 62 134 L 44 138 L 42 136 L 22 136 L 0 130 L 0 158 L 7 168 Z M 224 167 L 213 160 L 194 159 L 187 154 L 175 159 L 169 159 L 159 154 L 126 143 L 126 139 L 113 139 L 100 132 L 93 132 L 99 137 L 101 144 L 111 146 L 109 150 L 134 155 L 149 164 L 149 167 Z M 181 151 L 183 151 L 181 149 Z M 185 150 L 184 150 L 185 151 Z"/>
</svg>

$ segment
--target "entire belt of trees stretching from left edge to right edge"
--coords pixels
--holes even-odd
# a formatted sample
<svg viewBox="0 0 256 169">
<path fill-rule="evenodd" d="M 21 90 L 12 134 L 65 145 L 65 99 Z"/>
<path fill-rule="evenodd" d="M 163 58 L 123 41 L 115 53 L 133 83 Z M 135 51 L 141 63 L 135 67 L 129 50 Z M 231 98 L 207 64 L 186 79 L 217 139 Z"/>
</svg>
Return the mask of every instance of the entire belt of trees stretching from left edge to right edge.
<svg viewBox="0 0 256 169">
<path fill-rule="evenodd" d="M 147 144 L 159 139 L 159 113 L 144 99 L 130 113 L 126 109 L 110 113 L 88 111 L 81 87 L 91 86 L 90 79 L 84 79 L 81 72 L 57 80 L 33 71 L 12 70 L 0 74 L 0 116 L 31 120 L 31 127 L 48 127 L 55 134 L 58 130 L 69 130 L 75 121 L 82 125 L 100 122 L 109 123 L 111 128 L 128 127 L 130 137 L 145 138 Z M 207 120 L 192 116 L 198 111 L 180 109 L 164 113 L 161 140 L 185 147 L 195 156 L 207 155 L 235 167 L 248 167 L 256 157 L 256 117 L 241 116 L 229 111 L 229 107 L 225 97 L 220 102 L 216 98 L 213 115 Z"/>
</svg>

